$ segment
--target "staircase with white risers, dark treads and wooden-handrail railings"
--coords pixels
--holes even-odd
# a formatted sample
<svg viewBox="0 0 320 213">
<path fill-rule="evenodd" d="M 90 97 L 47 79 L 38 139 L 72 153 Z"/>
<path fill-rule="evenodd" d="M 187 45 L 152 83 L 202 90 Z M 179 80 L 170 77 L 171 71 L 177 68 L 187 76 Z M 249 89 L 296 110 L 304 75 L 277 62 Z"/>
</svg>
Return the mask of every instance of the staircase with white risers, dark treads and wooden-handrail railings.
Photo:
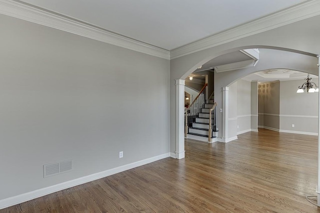
<svg viewBox="0 0 320 213">
<path fill-rule="evenodd" d="M 217 141 L 215 108 L 212 109 L 214 106 L 214 100 L 205 100 L 205 87 L 206 85 L 202 88 L 192 104 L 185 110 L 185 137 L 213 143 Z M 211 134 L 209 129 L 211 129 Z"/>
</svg>

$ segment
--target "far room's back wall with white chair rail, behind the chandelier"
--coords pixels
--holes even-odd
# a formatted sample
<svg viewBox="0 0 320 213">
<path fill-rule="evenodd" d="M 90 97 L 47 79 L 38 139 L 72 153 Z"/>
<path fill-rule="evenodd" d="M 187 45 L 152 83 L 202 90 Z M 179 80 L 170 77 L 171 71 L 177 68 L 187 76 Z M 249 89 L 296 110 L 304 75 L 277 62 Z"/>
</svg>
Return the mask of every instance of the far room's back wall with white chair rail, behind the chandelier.
<svg viewBox="0 0 320 213">
<path fill-rule="evenodd" d="M 318 82 L 318 78 L 314 80 Z M 259 126 L 280 132 L 317 134 L 318 93 L 296 93 L 304 82 L 301 79 L 259 84 Z"/>
</svg>

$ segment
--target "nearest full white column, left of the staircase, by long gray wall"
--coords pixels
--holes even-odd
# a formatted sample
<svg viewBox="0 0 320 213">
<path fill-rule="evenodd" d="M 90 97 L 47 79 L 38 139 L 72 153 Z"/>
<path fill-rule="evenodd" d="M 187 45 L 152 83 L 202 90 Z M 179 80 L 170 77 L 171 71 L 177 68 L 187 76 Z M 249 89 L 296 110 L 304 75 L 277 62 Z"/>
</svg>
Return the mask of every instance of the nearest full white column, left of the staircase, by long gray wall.
<svg viewBox="0 0 320 213">
<path fill-rule="evenodd" d="M 175 158 L 184 158 L 184 80 L 175 80 Z"/>
</svg>

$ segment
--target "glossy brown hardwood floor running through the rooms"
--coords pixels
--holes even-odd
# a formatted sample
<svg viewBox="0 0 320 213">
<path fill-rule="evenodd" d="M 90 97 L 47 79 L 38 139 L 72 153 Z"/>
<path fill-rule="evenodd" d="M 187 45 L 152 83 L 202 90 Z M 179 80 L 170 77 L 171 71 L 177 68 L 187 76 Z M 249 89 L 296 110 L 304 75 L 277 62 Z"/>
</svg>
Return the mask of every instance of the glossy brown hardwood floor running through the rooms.
<svg viewBox="0 0 320 213">
<path fill-rule="evenodd" d="M 316 213 L 317 136 L 259 129 L 227 144 L 186 140 L 186 157 L 28 201 L 0 213 Z M 316 202 L 316 201 L 314 201 Z"/>
</svg>

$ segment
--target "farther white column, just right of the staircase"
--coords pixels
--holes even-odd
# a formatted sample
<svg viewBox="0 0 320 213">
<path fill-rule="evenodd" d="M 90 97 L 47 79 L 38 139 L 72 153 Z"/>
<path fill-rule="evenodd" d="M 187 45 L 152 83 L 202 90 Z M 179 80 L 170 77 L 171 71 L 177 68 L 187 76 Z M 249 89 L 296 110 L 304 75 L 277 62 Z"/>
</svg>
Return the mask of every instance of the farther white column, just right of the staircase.
<svg viewBox="0 0 320 213">
<path fill-rule="evenodd" d="M 222 87 L 222 139 L 228 142 L 228 118 L 229 118 L 229 87 Z"/>
</svg>

